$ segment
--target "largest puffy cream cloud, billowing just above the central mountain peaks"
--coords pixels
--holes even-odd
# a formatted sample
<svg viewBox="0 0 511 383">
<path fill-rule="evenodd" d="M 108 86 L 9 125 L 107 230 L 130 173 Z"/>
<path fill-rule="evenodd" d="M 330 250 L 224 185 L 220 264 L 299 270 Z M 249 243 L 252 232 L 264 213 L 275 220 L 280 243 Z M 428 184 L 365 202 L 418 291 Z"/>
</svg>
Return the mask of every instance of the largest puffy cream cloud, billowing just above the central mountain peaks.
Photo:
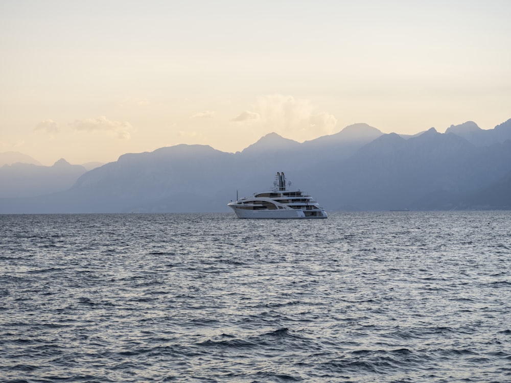
<svg viewBox="0 0 511 383">
<path fill-rule="evenodd" d="M 253 111 L 244 111 L 231 121 L 259 124 L 265 130 L 298 140 L 334 133 L 337 119 L 330 113 L 316 109 L 309 100 L 271 94 L 259 97 Z"/>
</svg>

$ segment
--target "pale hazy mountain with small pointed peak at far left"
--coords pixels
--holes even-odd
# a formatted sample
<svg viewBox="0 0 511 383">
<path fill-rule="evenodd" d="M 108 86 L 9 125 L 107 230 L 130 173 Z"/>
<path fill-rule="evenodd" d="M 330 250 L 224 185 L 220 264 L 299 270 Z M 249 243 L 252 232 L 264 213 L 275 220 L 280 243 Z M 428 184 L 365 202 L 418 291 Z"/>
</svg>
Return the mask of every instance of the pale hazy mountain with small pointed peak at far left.
<svg viewBox="0 0 511 383">
<path fill-rule="evenodd" d="M 60 159 L 53 166 L 14 163 L 0 167 L 0 198 L 32 197 L 73 186 L 86 172 L 81 165 Z"/>
</svg>

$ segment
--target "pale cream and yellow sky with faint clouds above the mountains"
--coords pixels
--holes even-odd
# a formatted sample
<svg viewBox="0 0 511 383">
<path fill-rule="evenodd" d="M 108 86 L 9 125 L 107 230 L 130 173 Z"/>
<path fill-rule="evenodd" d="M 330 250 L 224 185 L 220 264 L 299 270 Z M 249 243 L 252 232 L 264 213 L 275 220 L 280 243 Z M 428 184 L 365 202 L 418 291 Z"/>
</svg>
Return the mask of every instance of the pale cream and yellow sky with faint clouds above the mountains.
<svg viewBox="0 0 511 383">
<path fill-rule="evenodd" d="M 241 151 L 511 118 L 511 2 L 0 0 L 0 152 Z"/>
</svg>

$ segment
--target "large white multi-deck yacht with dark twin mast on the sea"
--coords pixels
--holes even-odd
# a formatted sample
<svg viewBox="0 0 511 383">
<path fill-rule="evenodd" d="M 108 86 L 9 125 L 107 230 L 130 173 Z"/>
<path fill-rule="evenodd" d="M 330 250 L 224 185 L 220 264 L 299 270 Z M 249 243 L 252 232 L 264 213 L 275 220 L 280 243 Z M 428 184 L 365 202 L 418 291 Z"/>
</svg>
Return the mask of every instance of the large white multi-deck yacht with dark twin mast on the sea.
<svg viewBox="0 0 511 383">
<path fill-rule="evenodd" d="M 289 186 L 289 187 L 287 187 Z M 327 218 L 327 212 L 308 194 L 292 190 L 284 172 L 277 172 L 273 188 L 227 204 L 238 218 Z"/>
</svg>

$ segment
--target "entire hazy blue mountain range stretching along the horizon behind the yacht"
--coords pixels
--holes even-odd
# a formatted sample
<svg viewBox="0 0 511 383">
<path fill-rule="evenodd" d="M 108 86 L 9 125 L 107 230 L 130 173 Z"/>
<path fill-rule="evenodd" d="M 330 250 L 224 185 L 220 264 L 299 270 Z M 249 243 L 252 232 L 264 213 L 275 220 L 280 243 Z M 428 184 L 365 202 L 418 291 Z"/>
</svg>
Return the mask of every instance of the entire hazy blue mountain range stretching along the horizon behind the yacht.
<svg viewBox="0 0 511 383">
<path fill-rule="evenodd" d="M 330 211 L 511 209 L 511 119 L 413 136 L 355 124 L 302 143 L 270 133 L 237 153 L 176 145 L 89 171 L 60 160 L 47 168 L 66 169 L 61 183 L 50 170 L 16 182 L 28 166 L 0 167 L 0 213 L 228 211 L 237 194 L 269 189 L 277 171 Z M 37 187 L 50 179 L 53 189 Z"/>
</svg>

